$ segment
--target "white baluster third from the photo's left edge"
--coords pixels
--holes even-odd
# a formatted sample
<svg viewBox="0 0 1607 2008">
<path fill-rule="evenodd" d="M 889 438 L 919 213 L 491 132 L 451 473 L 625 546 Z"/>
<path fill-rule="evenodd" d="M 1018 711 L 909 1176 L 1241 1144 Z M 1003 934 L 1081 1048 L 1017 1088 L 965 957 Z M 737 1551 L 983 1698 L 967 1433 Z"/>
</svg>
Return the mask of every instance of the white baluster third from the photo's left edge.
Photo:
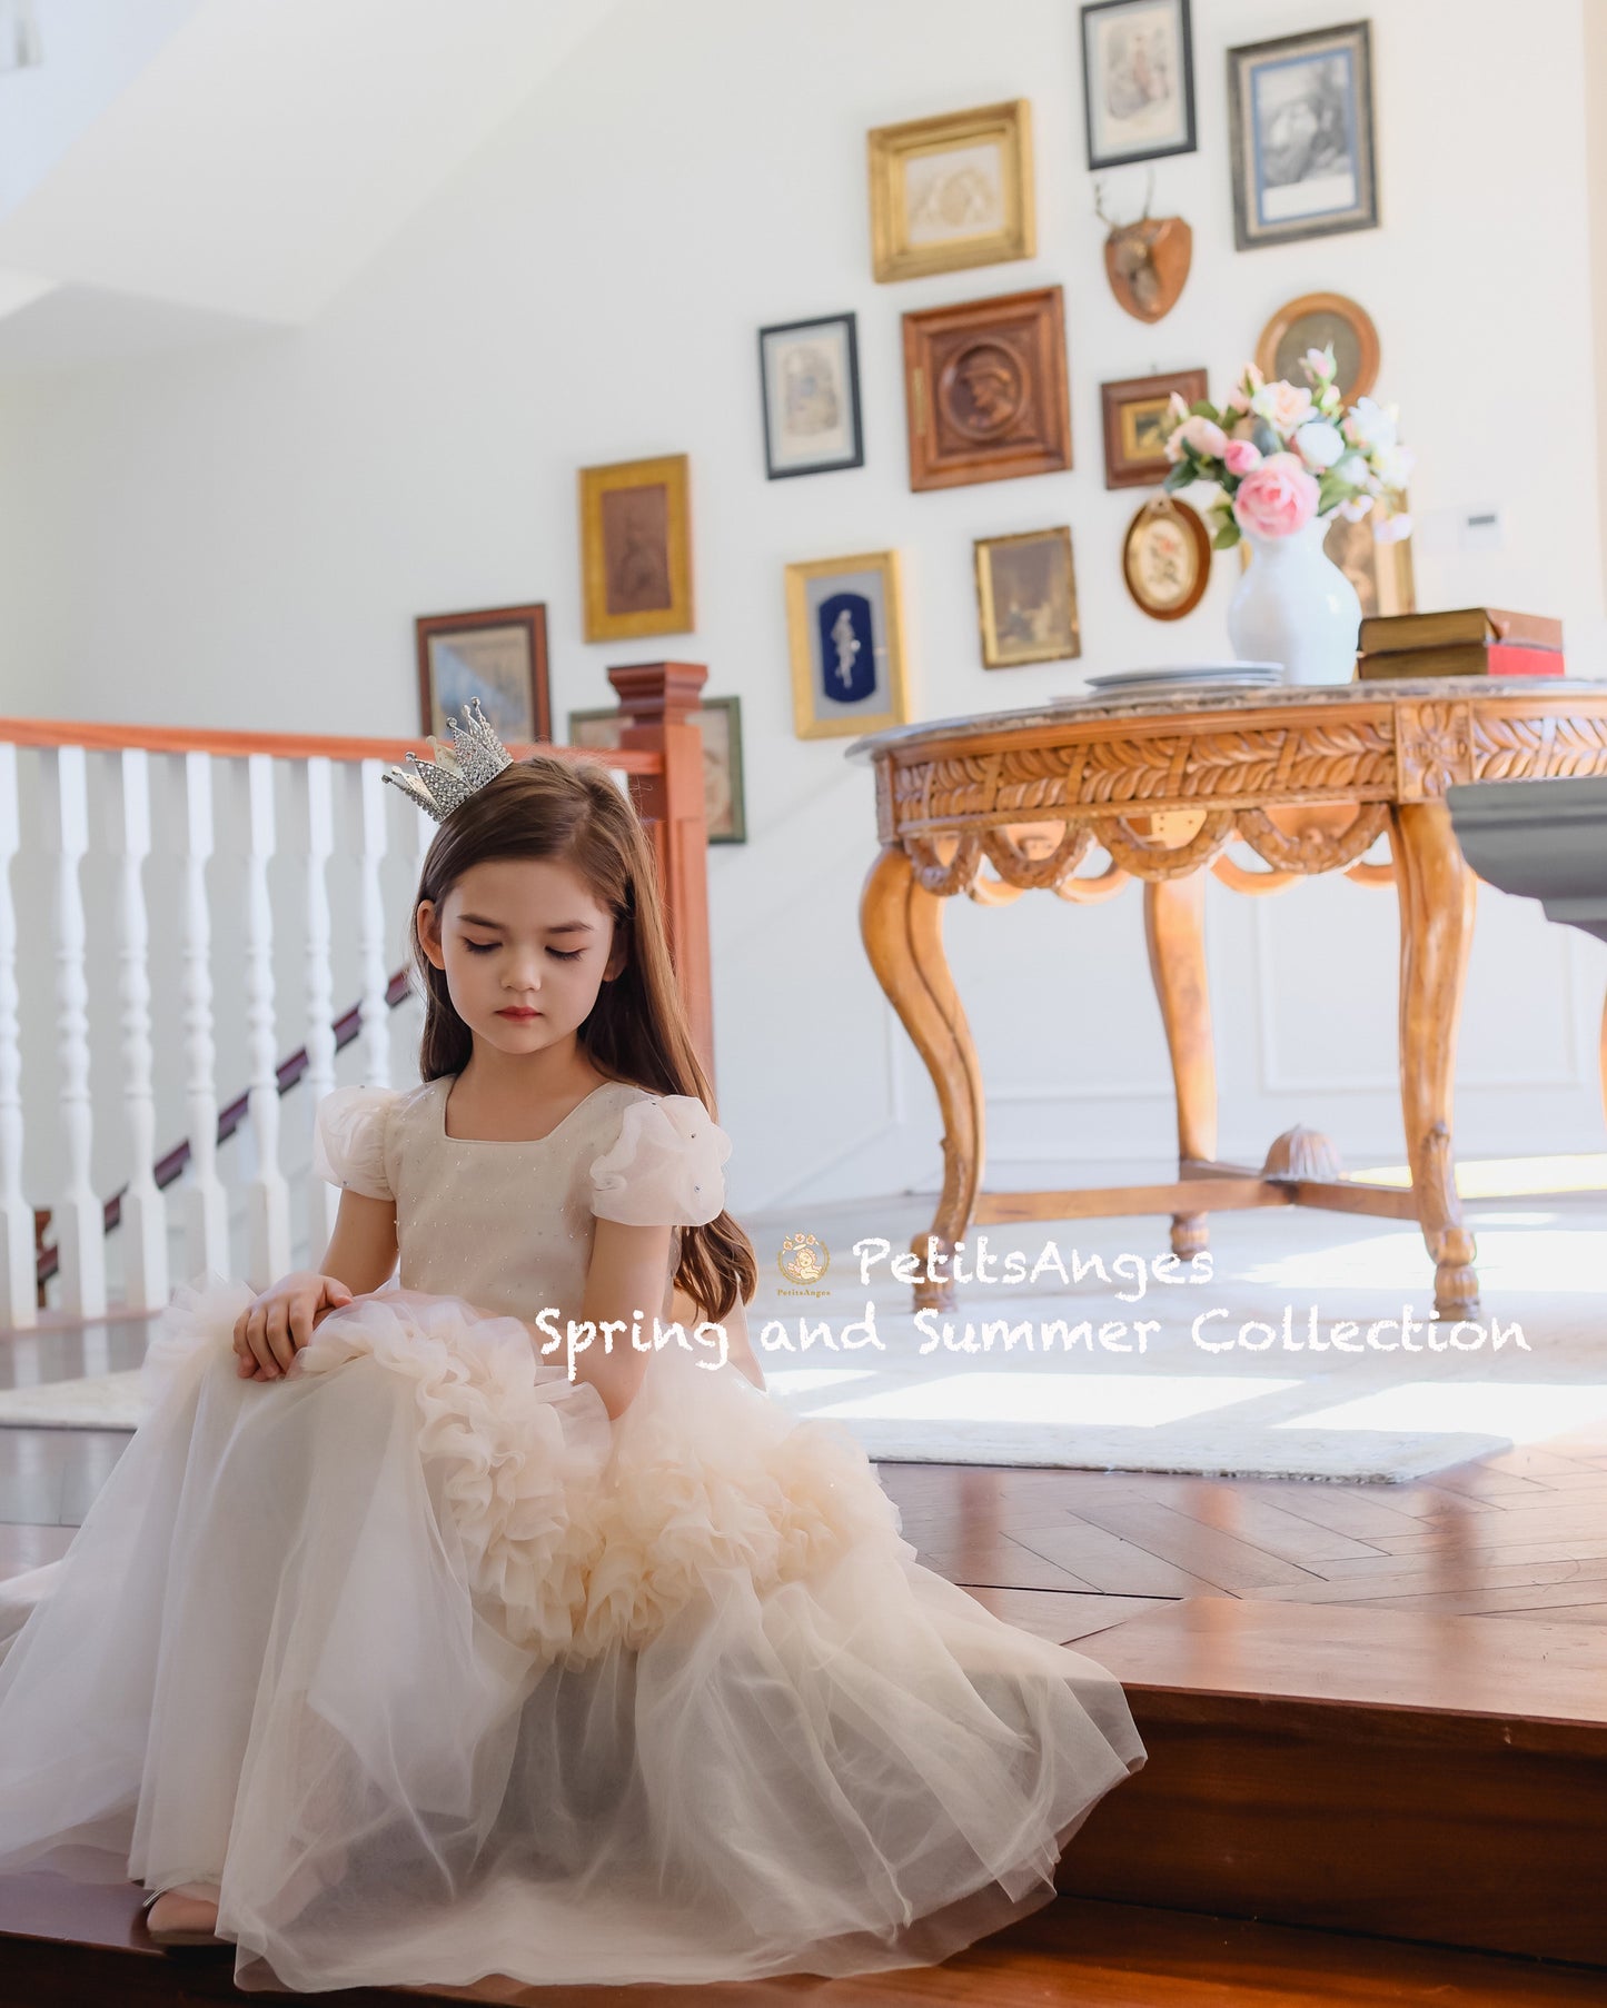
<svg viewBox="0 0 1607 2008">
<path fill-rule="evenodd" d="M 123 1297 L 131 1311 L 167 1303 L 167 1205 L 153 1173 L 157 1098 L 151 1084 L 151 936 L 143 867 L 151 855 L 151 755 L 121 755 L 123 815 L 117 896 L 117 994 L 123 1006 L 123 1106 L 129 1118 L 129 1191 L 123 1195 Z"/>
</svg>

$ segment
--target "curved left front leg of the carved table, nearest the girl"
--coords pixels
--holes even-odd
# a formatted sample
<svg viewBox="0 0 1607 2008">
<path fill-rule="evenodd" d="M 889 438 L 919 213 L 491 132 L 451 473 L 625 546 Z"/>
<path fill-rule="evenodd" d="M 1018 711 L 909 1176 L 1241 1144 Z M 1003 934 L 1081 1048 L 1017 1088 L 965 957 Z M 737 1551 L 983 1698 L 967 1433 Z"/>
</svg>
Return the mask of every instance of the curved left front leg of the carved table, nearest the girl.
<svg viewBox="0 0 1607 2008">
<path fill-rule="evenodd" d="M 860 934 L 876 980 L 926 1062 L 942 1110 L 942 1197 L 930 1235 L 952 1257 L 982 1181 L 982 1068 L 948 958 L 942 950 L 942 900 L 916 880 L 902 845 L 890 843 L 866 877 Z M 910 1251 L 926 1265 L 926 1235 Z M 916 1283 L 916 1309 L 950 1309 L 948 1277 Z"/>
</svg>

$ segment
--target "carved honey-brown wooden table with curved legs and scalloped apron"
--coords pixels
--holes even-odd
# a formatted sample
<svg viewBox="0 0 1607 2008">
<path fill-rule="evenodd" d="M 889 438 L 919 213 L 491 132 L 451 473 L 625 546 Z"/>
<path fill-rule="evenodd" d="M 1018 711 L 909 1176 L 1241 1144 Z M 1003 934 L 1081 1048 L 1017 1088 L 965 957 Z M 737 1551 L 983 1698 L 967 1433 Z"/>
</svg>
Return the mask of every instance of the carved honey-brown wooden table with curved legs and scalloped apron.
<svg viewBox="0 0 1607 2008">
<path fill-rule="evenodd" d="M 1450 1153 L 1450 1100 L 1474 873 L 1444 791 L 1468 781 L 1607 775 L 1607 683 L 1434 677 L 1189 699 L 1069 699 L 848 747 L 876 765 L 882 853 L 860 928 L 876 978 L 914 1040 L 942 1108 L 944 1179 L 930 1237 L 950 1257 L 970 1223 L 1169 1213 L 1179 1255 L 1205 1217 L 1241 1207 L 1334 1207 L 1414 1219 L 1434 1257 L 1434 1307 L 1478 1305 L 1472 1235 Z M 1392 863 L 1362 853 L 1388 833 Z M 1225 855 L 1243 839 L 1268 869 Z M 1079 865 L 1095 847 L 1109 863 Z M 992 867 L 990 871 L 986 867 Z M 1217 1092 L 1205 988 L 1205 871 L 1266 894 L 1314 871 L 1400 896 L 1400 1100 L 1408 1191 L 1338 1175 L 1310 1131 L 1278 1139 L 1255 1171 L 1217 1163 Z M 1177 1179 L 1071 1193 L 978 1193 L 982 1074 L 942 948 L 942 902 L 1002 906 L 1022 892 L 1071 904 L 1143 882 L 1149 966 L 1177 1088 Z M 926 1257 L 926 1235 L 912 1253 Z M 952 1303 L 924 1275 L 916 1305 Z"/>
</svg>

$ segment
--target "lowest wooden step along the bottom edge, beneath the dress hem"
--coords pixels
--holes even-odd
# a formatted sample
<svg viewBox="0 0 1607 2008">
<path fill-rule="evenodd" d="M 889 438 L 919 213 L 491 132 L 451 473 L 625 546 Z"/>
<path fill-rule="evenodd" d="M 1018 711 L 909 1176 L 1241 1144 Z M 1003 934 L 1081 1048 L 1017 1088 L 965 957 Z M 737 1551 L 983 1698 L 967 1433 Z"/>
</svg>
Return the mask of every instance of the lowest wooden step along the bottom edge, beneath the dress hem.
<svg viewBox="0 0 1607 2008">
<path fill-rule="evenodd" d="M 165 1954 L 139 1924 L 139 1890 L 56 1875 L 0 1877 L 0 2000 L 6 2008 L 189 2008 L 237 2002 L 227 1952 Z M 1059 1898 L 942 1966 L 852 1980 L 727 1986 L 352 1988 L 343 2008 L 416 2000 L 506 2008 L 1601 2008 L 1601 1974 L 1493 1954 L 1300 1932 Z M 303 1996 L 273 1996 L 293 1998 Z"/>
</svg>

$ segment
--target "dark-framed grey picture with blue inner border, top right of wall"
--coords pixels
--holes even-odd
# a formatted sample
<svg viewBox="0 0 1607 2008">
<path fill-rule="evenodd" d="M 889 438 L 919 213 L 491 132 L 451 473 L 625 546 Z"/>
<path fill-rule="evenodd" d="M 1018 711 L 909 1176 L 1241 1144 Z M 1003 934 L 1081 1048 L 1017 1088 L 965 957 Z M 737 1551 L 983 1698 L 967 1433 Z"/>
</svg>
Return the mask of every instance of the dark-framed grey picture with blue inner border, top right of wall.
<svg viewBox="0 0 1607 2008">
<path fill-rule="evenodd" d="M 1368 22 L 1229 48 L 1227 114 L 1239 251 L 1378 229 Z"/>
</svg>

